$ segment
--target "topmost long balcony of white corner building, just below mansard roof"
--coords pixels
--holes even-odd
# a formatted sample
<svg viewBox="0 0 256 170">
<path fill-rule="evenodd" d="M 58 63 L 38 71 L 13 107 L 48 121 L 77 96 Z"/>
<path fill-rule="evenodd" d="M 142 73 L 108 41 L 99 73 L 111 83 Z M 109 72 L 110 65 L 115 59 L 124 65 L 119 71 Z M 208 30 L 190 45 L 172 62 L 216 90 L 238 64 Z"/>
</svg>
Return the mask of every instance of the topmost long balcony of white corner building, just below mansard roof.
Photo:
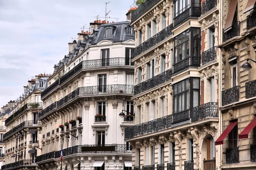
<svg viewBox="0 0 256 170">
<path fill-rule="evenodd" d="M 132 66 L 133 63 L 128 62 L 125 57 L 116 57 L 116 58 L 108 58 L 108 59 L 93 59 L 82 61 L 75 68 L 71 69 L 67 74 L 62 76 L 60 79 L 56 80 L 52 85 L 46 88 L 41 93 L 41 98 L 44 98 L 47 94 L 49 94 L 52 90 L 54 90 L 58 85 L 64 84 L 67 80 L 72 78 L 74 75 L 79 73 L 82 69 L 92 69 L 92 68 L 106 68 L 106 67 L 115 67 L 115 66 Z"/>
</svg>

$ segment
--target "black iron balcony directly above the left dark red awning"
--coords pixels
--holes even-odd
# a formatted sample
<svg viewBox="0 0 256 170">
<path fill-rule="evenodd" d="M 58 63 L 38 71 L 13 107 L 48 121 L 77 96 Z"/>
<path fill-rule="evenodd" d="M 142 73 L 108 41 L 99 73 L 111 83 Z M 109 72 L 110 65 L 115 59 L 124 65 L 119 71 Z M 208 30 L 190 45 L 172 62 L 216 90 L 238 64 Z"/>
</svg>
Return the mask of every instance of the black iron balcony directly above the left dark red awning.
<svg viewBox="0 0 256 170">
<path fill-rule="evenodd" d="M 240 86 L 235 86 L 227 90 L 221 91 L 221 105 L 228 105 L 233 102 L 239 101 L 239 88 Z"/>
</svg>

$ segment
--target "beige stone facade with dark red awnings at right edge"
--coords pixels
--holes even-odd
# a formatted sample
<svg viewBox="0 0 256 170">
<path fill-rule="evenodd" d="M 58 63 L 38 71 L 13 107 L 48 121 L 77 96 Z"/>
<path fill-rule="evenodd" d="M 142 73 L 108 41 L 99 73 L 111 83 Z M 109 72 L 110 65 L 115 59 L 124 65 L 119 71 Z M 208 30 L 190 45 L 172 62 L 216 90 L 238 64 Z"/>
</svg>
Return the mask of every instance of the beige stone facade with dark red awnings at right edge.
<svg viewBox="0 0 256 170">
<path fill-rule="evenodd" d="M 223 0 L 221 7 L 221 169 L 256 167 L 255 0 Z"/>
</svg>

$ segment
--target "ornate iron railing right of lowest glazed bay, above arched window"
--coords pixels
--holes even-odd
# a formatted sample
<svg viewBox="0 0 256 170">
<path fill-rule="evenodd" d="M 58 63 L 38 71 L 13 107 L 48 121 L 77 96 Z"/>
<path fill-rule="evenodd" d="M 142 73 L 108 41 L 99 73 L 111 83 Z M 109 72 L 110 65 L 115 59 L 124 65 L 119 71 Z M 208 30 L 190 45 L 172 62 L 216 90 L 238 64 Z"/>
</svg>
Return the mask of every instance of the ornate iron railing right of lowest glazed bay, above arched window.
<svg viewBox="0 0 256 170">
<path fill-rule="evenodd" d="M 191 122 L 207 117 L 218 117 L 218 103 L 208 102 L 190 109 Z"/>
</svg>

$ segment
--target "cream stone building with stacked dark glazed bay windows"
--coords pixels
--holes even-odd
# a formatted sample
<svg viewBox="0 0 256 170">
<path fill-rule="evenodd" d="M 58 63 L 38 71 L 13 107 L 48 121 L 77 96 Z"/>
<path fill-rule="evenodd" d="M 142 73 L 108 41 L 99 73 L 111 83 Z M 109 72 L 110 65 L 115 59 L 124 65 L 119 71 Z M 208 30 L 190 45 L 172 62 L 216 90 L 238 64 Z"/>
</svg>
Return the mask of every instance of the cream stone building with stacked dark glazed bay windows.
<svg viewBox="0 0 256 170">
<path fill-rule="evenodd" d="M 146 0 L 135 30 L 134 170 L 215 170 L 219 131 L 217 1 Z"/>
</svg>

